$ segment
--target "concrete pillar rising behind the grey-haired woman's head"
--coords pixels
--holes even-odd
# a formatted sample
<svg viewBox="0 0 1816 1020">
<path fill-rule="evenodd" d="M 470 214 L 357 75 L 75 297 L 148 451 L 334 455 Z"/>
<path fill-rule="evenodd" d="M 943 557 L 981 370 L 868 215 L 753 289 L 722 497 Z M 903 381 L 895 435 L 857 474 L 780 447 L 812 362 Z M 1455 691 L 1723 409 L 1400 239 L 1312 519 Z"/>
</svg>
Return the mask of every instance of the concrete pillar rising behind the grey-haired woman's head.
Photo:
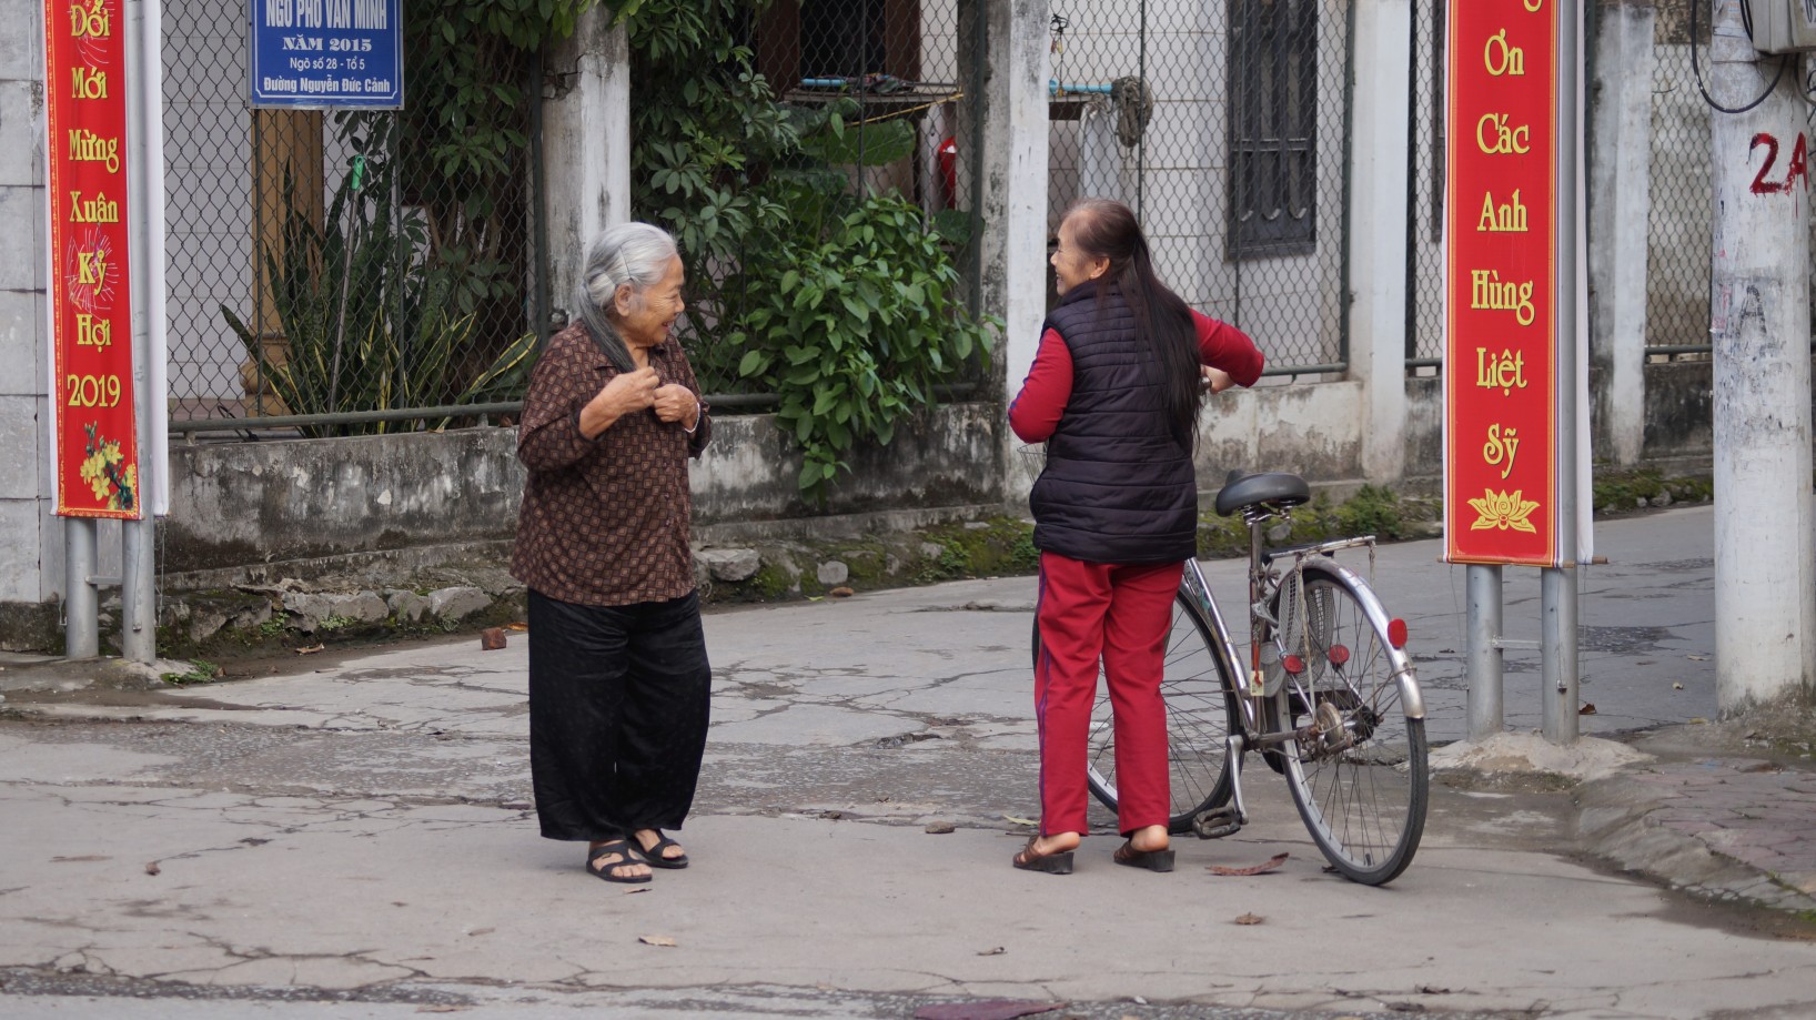
<svg viewBox="0 0 1816 1020">
<path fill-rule="evenodd" d="M 630 40 L 596 5 L 543 67 L 543 218 L 548 223 L 548 299 L 574 318 L 581 250 L 594 234 L 630 220 Z"/>
</svg>

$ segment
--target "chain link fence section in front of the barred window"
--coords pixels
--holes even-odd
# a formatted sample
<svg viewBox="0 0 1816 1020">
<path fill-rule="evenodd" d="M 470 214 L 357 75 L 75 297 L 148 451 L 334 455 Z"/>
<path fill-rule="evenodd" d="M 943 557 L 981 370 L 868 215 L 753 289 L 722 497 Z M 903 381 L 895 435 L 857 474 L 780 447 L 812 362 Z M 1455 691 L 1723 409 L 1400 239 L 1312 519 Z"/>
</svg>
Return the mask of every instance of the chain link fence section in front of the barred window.
<svg viewBox="0 0 1816 1020">
<path fill-rule="evenodd" d="M 1055 0 L 1050 230 L 1137 211 L 1157 270 L 1269 374 L 1347 361 L 1344 0 Z"/>
</svg>

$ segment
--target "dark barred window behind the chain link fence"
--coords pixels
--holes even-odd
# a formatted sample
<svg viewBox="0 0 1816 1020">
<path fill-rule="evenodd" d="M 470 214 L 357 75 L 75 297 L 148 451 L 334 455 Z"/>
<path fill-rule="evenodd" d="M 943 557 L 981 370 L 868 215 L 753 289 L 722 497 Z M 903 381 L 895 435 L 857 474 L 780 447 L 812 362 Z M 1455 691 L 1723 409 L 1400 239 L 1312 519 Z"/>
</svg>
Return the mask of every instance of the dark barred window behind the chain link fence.
<svg viewBox="0 0 1816 1020">
<path fill-rule="evenodd" d="M 1317 247 L 1315 0 L 1229 0 L 1229 258 Z"/>
</svg>

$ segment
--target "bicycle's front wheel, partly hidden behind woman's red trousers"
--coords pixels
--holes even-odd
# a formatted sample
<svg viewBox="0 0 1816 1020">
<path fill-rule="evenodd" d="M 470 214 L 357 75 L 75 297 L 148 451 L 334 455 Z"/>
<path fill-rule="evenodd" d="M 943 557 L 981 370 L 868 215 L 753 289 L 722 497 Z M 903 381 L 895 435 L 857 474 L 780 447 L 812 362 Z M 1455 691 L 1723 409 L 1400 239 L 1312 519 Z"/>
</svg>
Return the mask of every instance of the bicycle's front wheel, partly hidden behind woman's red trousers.
<svg viewBox="0 0 1816 1020">
<path fill-rule="evenodd" d="M 1224 744 L 1237 710 L 1224 659 L 1215 652 L 1209 623 L 1186 590 L 1173 595 L 1173 623 L 1166 635 L 1160 697 L 1166 701 L 1166 762 L 1171 815 L 1168 829 L 1191 831 L 1191 820 L 1229 800 L 1231 779 Z M 1041 621 L 1033 626 L 1033 657 L 1041 661 Z M 1106 808 L 1117 806 L 1117 731 L 1110 684 L 1099 666 L 1086 748 L 1086 782 Z"/>
</svg>

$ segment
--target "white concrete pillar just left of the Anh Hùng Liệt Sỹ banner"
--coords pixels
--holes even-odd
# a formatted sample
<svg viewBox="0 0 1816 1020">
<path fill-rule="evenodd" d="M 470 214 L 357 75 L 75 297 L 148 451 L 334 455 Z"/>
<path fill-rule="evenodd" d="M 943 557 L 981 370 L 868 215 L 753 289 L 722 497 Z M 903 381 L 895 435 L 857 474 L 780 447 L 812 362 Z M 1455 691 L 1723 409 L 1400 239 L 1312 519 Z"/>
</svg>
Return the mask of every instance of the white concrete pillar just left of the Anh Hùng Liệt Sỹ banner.
<svg viewBox="0 0 1816 1020">
<path fill-rule="evenodd" d="M 1357 0 L 1349 154 L 1349 374 L 1366 388 L 1362 474 L 1406 474 L 1406 103 L 1411 0 Z"/>
</svg>

